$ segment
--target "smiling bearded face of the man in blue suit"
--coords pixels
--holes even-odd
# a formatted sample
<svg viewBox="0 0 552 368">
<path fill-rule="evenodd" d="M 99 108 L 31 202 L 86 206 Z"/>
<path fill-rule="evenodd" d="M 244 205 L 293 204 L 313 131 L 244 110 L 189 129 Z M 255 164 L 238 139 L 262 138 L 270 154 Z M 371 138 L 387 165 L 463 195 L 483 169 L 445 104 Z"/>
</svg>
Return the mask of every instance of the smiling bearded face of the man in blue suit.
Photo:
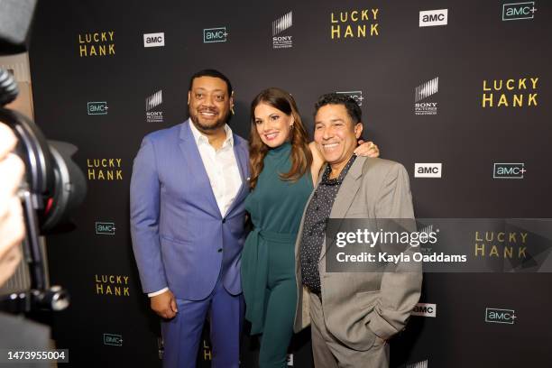
<svg viewBox="0 0 552 368">
<path fill-rule="evenodd" d="M 193 80 L 188 92 L 189 117 L 199 131 L 222 128 L 228 121 L 233 104 L 223 79 L 199 77 Z"/>
</svg>

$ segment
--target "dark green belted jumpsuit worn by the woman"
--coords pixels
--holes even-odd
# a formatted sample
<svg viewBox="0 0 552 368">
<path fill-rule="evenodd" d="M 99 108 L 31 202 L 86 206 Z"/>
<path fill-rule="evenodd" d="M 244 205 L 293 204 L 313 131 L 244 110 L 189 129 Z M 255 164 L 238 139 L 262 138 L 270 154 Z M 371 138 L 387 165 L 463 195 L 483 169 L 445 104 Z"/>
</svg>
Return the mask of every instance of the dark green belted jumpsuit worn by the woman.
<svg viewBox="0 0 552 368">
<path fill-rule="evenodd" d="M 254 229 L 242 253 L 245 318 L 252 335 L 262 334 L 261 368 L 284 368 L 293 335 L 297 302 L 295 241 L 312 192 L 310 168 L 298 180 L 282 180 L 290 170 L 291 145 L 271 149 L 255 189 L 245 199 Z"/>
</svg>

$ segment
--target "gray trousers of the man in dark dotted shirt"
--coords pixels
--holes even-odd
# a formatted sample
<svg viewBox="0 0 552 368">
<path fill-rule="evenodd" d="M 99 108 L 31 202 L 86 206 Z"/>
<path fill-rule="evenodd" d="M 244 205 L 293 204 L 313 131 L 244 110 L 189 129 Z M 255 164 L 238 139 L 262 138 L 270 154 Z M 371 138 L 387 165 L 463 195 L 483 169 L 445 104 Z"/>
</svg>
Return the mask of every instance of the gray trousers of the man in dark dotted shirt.
<svg viewBox="0 0 552 368">
<path fill-rule="evenodd" d="M 310 328 L 315 368 L 387 368 L 389 344 L 376 336 L 373 346 L 365 351 L 353 350 L 332 336 L 324 321 L 322 303 L 310 294 Z"/>
</svg>

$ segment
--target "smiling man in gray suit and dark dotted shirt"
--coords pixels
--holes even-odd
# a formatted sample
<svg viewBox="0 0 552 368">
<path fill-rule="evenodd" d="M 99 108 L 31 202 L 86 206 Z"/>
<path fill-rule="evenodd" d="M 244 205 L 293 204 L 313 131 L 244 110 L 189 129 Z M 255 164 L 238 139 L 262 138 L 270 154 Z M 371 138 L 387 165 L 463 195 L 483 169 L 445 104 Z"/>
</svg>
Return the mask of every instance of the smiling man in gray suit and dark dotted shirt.
<svg viewBox="0 0 552 368">
<path fill-rule="evenodd" d="M 419 300 L 421 268 L 327 272 L 327 218 L 414 218 L 407 171 L 398 162 L 356 157 L 363 131 L 353 98 L 320 97 L 315 142 L 327 166 L 308 200 L 296 244 L 295 331 L 311 324 L 317 368 L 387 367 L 387 340 Z M 399 266 L 400 269 L 400 266 Z"/>
</svg>

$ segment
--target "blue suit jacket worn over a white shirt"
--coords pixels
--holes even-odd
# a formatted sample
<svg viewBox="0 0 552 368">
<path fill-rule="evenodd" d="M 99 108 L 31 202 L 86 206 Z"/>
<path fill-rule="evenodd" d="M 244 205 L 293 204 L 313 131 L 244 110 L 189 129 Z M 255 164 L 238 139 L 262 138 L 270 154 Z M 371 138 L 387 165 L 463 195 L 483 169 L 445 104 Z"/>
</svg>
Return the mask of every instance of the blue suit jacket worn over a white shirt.
<svg viewBox="0 0 552 368">
<path fill-rule="evenodd" d="M 143 138 L 131 179 L 131 235 L 144 292 L 165 287 L 178 299 L 205 299 L 222 269 L 225 289 L 242 292 L 247 141 L 234 134 L 242 186 L 220 214 L 188 121 Z"/>
</svg>

